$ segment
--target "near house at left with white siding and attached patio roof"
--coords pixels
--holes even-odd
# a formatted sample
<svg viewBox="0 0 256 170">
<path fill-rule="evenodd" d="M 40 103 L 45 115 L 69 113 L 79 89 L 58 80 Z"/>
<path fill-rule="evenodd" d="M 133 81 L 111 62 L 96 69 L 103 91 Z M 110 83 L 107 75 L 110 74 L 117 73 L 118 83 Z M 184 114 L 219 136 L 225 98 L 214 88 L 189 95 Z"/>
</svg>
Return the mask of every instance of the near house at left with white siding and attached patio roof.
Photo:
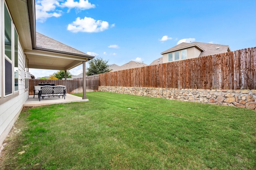
<svg viewBox="0 0 256 170">
<path fill-rule="evenodd" d="M 36 33 L 34 0 L 0 0 L 0 12 L 1 146 L 28 99 L 29 68 L 85 70 L 94 57 Z"/>
</svg>

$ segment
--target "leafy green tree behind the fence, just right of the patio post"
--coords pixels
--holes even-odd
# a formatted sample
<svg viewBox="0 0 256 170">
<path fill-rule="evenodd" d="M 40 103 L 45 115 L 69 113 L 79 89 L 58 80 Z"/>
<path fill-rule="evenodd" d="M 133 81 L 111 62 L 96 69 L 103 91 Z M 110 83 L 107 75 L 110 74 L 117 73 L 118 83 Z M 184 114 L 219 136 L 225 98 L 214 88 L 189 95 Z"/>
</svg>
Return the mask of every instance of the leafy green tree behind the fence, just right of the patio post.
<svg viewBox="0 0 256 170">
<path fill-rule="evenodd" d="M 86 68 L 86 76 L 92 76 L 96 74 L 101 74 L 105 72 L 110 72 L 108 68 L 108 61 L 104 61 L 100 57 L 95 57 L 94 59 L 90 60 L 89 67 Z"/>
</svg>

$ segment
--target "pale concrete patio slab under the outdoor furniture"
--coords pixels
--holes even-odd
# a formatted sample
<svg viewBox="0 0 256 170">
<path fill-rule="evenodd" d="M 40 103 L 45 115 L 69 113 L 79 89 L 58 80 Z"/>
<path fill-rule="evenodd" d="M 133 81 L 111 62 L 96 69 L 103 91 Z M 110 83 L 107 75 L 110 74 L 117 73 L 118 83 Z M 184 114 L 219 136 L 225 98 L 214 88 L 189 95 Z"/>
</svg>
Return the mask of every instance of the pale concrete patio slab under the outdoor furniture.
<svg viewBox="0 0 256 170">
<path fill-rule="evenodd" d="M 61 104 L 61 103 L 72 103 L 72 102 L 87 102 L 88 99 L 82 99 L 81 97 L 74 96 L 72 94 L 66 94 L 66 99 L 60 98 L 54 96 L 54 97 L 44 97 L 44 99 L 41 98 L 41 101 L 39 101 L 38 96 L 35 96 L 33 98 L 33 95 L 28 96 L 28 100 L 25 102 L 24 106 L 44 106 L 44 105 L 50 105 L 50 104 Z"/>
</svg>

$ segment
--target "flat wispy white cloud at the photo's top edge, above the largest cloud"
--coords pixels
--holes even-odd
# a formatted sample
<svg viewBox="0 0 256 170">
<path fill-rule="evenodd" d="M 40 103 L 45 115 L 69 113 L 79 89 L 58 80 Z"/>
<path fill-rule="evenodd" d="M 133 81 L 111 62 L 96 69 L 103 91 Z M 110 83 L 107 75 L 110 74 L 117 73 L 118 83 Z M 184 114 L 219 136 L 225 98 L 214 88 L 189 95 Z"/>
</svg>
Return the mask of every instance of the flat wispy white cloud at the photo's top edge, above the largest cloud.
<svg viewBox="0 0 256 170">
<path fill-rule="evenodd" d="M 70 12 L 72 8 L 75 8 L 77 11 L 95 8 L 95 5 L 88 2 L 88 0 L 79 0 L 79 2 L 75 2 L 74 0 L 67 0 L 66 2 L 60 4 L 60 6 L 67 7 L 68 12 Z"/>
</svg>

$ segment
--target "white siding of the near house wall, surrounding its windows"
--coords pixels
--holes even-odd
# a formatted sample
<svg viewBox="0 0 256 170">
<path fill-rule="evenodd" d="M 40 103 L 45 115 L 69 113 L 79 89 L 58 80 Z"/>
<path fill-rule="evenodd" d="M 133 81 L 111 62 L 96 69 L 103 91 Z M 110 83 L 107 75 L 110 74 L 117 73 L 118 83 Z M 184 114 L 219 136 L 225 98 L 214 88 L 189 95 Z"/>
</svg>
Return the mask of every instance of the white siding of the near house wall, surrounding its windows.
<svg viewBox="0 0 256 170">
<path fill-rule="evenodd" d="M 4 1 L 0 1 L 0 37 L 4 37 Z M 12 17 L 12 16 L 11 16 Z M 24 103 L 28 99 L 28 90 L 25 89 L 25 80 L 22 79 L 25 68 L 25 54 L 22 45 L 18 41 L 18 91 L 14 92 L 14 84 L 12 94 L 4 96 L 4 39 L 0 39 L 0 146 L 4 142 L 6 136 L 12 129 L 15 121 L 23 108 Z M 14 70 L 14 62 L 12 64 Z M 14 72 L 12 73 L 14 82 Z"/>
</svg>

